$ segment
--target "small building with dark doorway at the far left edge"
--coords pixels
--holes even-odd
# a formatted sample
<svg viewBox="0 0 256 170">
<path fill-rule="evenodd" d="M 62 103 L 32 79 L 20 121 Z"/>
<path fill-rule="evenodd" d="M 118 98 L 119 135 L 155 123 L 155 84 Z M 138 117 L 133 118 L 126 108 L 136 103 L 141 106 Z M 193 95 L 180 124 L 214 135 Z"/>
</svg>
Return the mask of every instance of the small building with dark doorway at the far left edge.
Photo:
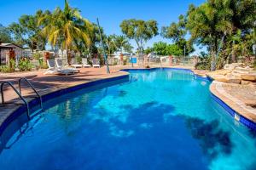
<svg viewBox="0 0 256 170">
<path fill-rule="evenodd" d="M 20 59 L 23 53 L 23 48 L 15 43 L 2 43 L 0 42 L 0 65 L 9 65 L 11 58 L 15 59 L 15 62 Z"/>
</svg>

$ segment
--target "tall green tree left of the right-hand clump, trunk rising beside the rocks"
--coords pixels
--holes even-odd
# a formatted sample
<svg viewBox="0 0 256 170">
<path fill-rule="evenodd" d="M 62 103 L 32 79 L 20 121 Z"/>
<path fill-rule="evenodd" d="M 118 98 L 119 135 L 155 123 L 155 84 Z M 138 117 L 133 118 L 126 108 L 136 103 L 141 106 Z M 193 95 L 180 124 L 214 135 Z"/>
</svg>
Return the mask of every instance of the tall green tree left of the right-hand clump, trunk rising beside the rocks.
<svg viewBox="0 0 256 170">
<path fill-rule="evenodd" d="M 223 0 L 208 0 L 199 7 L 191 5 L 188 12 L 187 28 L 191 39 L 202 45 L 206 45 L 212 55 L 211 70 L 216 68 L 216 59 L 219 44 L 225 34 L 230 33 L 230 17 L 232 11 L 229 2 Z"/>
</svg>

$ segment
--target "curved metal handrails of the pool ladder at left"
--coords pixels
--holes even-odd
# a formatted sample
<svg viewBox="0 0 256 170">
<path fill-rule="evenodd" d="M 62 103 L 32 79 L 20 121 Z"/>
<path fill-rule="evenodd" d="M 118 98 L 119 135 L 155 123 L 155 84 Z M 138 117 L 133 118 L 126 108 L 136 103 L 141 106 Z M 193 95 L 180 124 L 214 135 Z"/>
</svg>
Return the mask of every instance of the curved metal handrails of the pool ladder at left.
<svg viewBox="0 0 256 170">
<path fill-rule="evenodd" d="M 40 109 L 38 111 L 35 111 L 34 114 L 37 114 L 38 112 L 43 110 L 43 102 L 42 102 L 41 95 L 38 94 L 38 91 L 32 86 L 32 83 L 30 83 L 25 77 L 21 77 L 18 81 L 19 91 L 14 87 L 14 85 L 11 82 L 5 81 L 5 82 L 1 83 L 0 90 L 1 90 L 1 96 L 2 96 L 2 104 L 4 104 L 3 85 L 8 84 L 15 91 L 15 93 L 20 97 L 20 99 L 24 102 L 24 104 L 26 105 L 27 117 L 30 119 L 31 114 L 30 114 L 30 109 L 29 109 L 28 102 L 26 101 L 26 99 L 21 94 L 21 81 L 25 81 L 29 85 L 29 87 L 32 88 L 33 92 L 35 94 L 37 94 L 37 96 L 40 100 Z"/>
</svg>

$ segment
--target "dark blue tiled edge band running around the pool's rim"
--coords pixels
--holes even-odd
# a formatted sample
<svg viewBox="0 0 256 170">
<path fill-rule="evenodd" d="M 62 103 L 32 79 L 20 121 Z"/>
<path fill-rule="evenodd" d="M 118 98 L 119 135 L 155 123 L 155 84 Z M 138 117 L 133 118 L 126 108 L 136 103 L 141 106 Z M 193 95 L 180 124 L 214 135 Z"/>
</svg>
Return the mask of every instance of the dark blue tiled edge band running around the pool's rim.
<svg viewBox="0 0 256 170">
<path fill-rule="evenodd" d="M 197 79 L 201 79 L 201 80 L 205 80 L 208 82 L 212 82 L 212 79 L 209 79 L 208 77 L 201 77 L 201 75 L 197 75 L 195 74 L 195 72 L 191 69 L 185 69 L 185 68 L 172 68 L 172 67 L 154 67 L 154 68 L 130 68 L 130 69 L 121 69 L 119 71 L 124 72 L 123 75 L 115 75 L 113 77 L 103 77 L 97 80 L 92 80 L 90 82 L 84 82 L 84 83 L 79 83 L 67 88 L 61 88 L 61 89 L 57 89 L 53 92 L 49 92 L 49 94 L 44 94 L 42 95 L 42 100 L 43 102 L 49 100 L 49 99 L 54 99 L 55 97 L 61 96 L 63 94 L 68 94 L 71 93 L 73 91 L 77 91 L 79 89 L 82 88 L 90 88 L 93 87 L 95 85 L 98 84 L 102 84 L 104 82 L 112 82 L 112 81 L 116 81 L 125 77 L 129 77 L 129 71 L 157 71 L 157 70 L 179 70 L 179 71 L 189 71 L 189 72 L 193 72 L 195 78 Z M 238 111 L 235 111 L 234 109 L 231 108 L 230 105 L 228 105 L 226 103 L 226 101 L 224 99 L 221 99 L 221 97 L 219 97 L 219 94 L 216 93 L 215 91 L 212 90 L 212 84 L 210 86 L 210 93 L 212 95 L 212 99 L 214 99 L 219 105 L 221 105 L 225 111 L 227 111 L 230 116 L 233 116 L 235 118 L 236 121 L 241 122 L 242 124 L 244 124 L 245 126 L 256 130 L 256 123 L 253 122 L 252 120 L 250 120 L 250 117 L 246 117 L 243 116 L 242 113 L 239 113 Z M 33 106 L 33 105 L 38 105 L 39 101 L 38 99 L 32 99 L 29 101 L 29 105 Z M 15 118 L 17 118 L 18 116 L 20 116 L 21 114 L 23 114 L 26 111 L 26 106 L 25 105 L 20 105 L 20 107 L 18 107 L 15 111 L 13 111 L 9 116 L 7 116 L 5 118 L 5 120 L 0 124 L 0 136 L 3 133 L 3 131 L 6 129 L 6 127 L 9 126 L 9 123 L 13 122 L 15 120 Z M 237 118 L 239 117 L 239 118 Z"/>
</svg>

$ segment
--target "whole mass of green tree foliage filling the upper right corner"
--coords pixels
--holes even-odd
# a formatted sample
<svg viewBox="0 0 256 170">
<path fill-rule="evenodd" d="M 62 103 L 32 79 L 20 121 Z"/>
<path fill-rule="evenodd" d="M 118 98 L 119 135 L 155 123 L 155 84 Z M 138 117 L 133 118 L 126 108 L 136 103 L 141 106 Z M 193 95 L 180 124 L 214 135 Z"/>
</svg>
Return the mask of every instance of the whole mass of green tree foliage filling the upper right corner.
<svg viewBox="0 0 256 170">
<path fill-rule="evenodd" d="M 236 55 L 249 54 L 252 46 L 247 45 L 250 40 L 245 37 L 255 27 L 254 0 L 208 0 L 199 7 L 191 5 L 187 15 L 186 27 L 191 41 L 207 46 L 213 63 L 222 63 L 219 59 L 217 61 L 219 53 L 222 53 L 221 60 L 232 54 L 233 62 L 236 61 Z"/>
</svg>

